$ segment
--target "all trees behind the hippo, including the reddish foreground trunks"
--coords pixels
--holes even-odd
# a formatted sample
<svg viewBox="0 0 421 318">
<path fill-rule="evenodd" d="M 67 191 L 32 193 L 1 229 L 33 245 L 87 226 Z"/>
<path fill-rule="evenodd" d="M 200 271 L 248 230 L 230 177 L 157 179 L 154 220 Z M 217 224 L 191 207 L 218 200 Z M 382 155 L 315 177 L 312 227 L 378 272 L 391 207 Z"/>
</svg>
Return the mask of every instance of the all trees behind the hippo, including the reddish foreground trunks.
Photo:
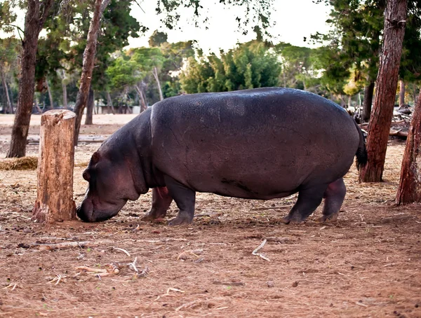
<svg viewBox="0 0 421 318">
<path fill-rule="evenodd" d="M 4 111 L 13 112 L 11 88 L 15 78 L 19 78 L 18 105 L 7 156 L 25 155 L 30 113 L 34 107 L 41 110 L 34 89 L 44 94 L 40 101 L 44 108 L 48 102 L 53 107 L 53 91 L 60 91 L 60 83 L 60 106 L 66 107 L 72 74 L 76 78 L 81 74 L 80 81 L 73 82 L 79 86 L 74 106 L 75 144 L 86 106 L 86 123 L 91 123 L 95 91 L 96 99 L 106 101 L 114 112 L 115 102 L 127 109 L 129 104 L 140 104 L 145 109 L 157 100 L 185 92 L 283 84 L 316 92 L 345 107 L 362 105 L 360 117 L 370 119 L 370 124 L 369 160 L 360 172 L 360 181 L 381 181 L 398 80 L 401 105 L 415 102 L 420 85 L 421 0 L 316 1 L 332 8 L 327 21 L 330 32 L 310 36 L 311 41 L 321 45 L 319 48 L 269 41 L 266 30 L 272 0 L 227 0 L 220 3 L 245 8 L 245 16 L 236 20 L 239 27 L 254 24 L 256 39 L 209 55 L 195 48 L 195 41 L 168 43 L 163 32 L 154 32 L 149 48 L 123 50 L 128 36 L 138 36 L 138 32 L 147 29 L 131 17 L 131 1 L 0 1 L 1 29 L 10 32 L 16 28 L 20 32 L 20 41 L 13 37 L 3 40 L 0 56 Z M 24 30 L 13 25 L 16 15 L 11 8 L 16 4 L 26 8 Z M 159 0 L 156 13 L 166 13 L 161 22 L 171 29 L 180 20 L 180 7 L 192 10 L 196 25 L 201 18 L 206 22 L 201 0 Z M 45 36 L 40 37 L 41 30 Z M 355 96 L 357 102 L 353 101 Z M 421 101 L 418 99 L 415 104 L 414 118 L 419 118 L 416 112 L 421 112 Z M 413 165 L 421 151 L 421 132 L 415 124 L 408 134 L 412 141 L 407 144 L 402 171 L 412 169 L 413 183 L 421 188 L 417 182 L 421 169 Z"/>
</svg>

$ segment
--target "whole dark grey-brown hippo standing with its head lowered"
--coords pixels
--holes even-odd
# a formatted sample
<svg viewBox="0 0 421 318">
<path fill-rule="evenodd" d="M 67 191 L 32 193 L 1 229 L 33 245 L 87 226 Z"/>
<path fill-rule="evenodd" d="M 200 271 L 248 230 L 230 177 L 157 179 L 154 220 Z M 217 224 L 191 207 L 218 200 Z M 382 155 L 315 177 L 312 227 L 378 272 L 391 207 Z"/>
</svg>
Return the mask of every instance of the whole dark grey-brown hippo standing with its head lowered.
<svg viewBox="0 0 421 318">
<path fill-rule="evenodd" d="M 114 132 L 93 153 L 83 179 L 88 190 L 76 212 L 82 221 L 115 216 L 152 188 L 144 221 L 192 223 L 196 192 L 270 200 L 298 193 L 283 223 L 299 223 L 321 204 L 319 221 L 337 218 L 342 177 L 365 165 L 363 134 L 334 102 L 290 88 L 180 95 L 164 99 Z"/>
</svg>

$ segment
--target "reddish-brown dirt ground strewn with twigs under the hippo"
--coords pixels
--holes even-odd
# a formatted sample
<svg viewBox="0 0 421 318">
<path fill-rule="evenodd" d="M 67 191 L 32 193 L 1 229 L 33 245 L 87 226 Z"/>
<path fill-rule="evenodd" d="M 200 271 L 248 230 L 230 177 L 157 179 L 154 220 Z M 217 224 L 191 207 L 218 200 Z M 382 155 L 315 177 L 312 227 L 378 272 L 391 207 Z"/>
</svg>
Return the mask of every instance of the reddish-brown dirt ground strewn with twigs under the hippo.
<svg viewBox="0 0 421 318">
<path fill-rule="evenodd" d="M 83 133 L 109 134 L 127 120 L 114 117 Z M 11 124 L 2 120 L 4 158 Z M 98 146 L 76 148 L 76 204 Z M 312 221 L 318 209 L 292 226 L 279 219 L 295 196 L 207 193 L 197 194 L 191 226 L 145 223 L 150 192 L 103 223 L 45 226 L 30 221 L 36 171 L 0 170 L 0 317 L 421 317 L 421 205 L 394 205 L 403 147 L 390 141 L 381 184 L 359 184 L 352 167 L 338 222 Z M 253 255 L 265 239 L 264 258 Z M 44 246 L 69 242 L 79 243 Z"/>
</svg>

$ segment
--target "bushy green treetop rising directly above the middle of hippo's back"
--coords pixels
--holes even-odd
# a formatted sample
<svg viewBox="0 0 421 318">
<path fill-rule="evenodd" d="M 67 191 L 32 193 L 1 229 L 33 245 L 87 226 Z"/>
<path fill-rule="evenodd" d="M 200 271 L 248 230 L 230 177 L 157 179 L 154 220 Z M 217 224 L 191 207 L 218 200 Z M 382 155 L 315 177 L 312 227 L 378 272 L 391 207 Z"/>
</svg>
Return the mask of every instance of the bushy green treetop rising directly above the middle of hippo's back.
<svg viewBox="0 0 421 318">
<path fill-rule="evenodd" d="M 193 92 L 224 92 L 278 85 L 280 63 L 265 43 L 250 41 L 220 53 L 189 57 L 180 74 L 182 89 Z"/>
</svg>

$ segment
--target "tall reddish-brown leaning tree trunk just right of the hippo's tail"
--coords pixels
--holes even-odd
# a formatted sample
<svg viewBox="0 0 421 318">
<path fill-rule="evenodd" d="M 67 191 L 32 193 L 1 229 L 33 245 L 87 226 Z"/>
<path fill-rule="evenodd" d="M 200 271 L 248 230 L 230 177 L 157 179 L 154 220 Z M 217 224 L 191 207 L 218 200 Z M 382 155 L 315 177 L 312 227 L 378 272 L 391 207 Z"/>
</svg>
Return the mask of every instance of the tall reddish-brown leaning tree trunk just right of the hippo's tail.
<svg viewBox="0 0 421 318">
<path fill-rule="evenodd" d="M 375 90 L 373 113 L 368 125 L 368 163 L 359 172 L 361 182 L 382 181 L 387 139 L 398 85 L 407 5 L 407 0 L 387 1 L 377 89 Z"/>
</svg>

